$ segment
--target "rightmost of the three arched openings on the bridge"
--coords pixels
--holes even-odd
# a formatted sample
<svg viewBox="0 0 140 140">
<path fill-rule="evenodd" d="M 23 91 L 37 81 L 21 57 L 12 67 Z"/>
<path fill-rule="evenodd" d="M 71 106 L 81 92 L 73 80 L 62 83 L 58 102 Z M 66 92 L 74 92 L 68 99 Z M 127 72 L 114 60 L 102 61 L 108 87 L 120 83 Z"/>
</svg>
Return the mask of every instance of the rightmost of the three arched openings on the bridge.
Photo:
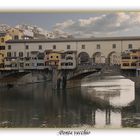
<svg viewBox="0 0 140 140">
<path fill-rule="evenodd" d="M 112 51 L 108 54 L 108 64 L 109 65 L 115 65 L 115 64 L 119 64 L 119 56 L 117 54 L 117 52 Z"/>
</svg>

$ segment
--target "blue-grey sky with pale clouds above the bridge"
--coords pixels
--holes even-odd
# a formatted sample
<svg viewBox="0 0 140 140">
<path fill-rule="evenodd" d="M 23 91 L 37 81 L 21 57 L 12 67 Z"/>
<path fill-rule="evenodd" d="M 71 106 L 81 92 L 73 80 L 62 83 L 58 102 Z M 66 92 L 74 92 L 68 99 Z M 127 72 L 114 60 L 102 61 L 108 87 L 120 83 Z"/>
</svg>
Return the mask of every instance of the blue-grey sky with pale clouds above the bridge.
<svg viewBox="0 0 140 140">
<path fill-rule="evenodd" d="M 36 25 L 75 37 L 140 36 L 140 12 L 0 13 L 0 24 Z"/>
</svg>

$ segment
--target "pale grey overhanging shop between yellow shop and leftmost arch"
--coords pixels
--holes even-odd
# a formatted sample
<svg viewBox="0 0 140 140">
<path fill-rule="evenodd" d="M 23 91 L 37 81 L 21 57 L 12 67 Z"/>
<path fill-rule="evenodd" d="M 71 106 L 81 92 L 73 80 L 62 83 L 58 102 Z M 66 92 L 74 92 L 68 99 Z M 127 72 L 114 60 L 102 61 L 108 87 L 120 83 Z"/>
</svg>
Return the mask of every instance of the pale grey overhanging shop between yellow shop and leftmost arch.
<svg viewBox="0 0 140 140">
<path fill-rule="evenodd" d="M 77 66 L 76 51 L 66 51 L 61 54 L 59 69 L 75 69 Z"/>
</svg>

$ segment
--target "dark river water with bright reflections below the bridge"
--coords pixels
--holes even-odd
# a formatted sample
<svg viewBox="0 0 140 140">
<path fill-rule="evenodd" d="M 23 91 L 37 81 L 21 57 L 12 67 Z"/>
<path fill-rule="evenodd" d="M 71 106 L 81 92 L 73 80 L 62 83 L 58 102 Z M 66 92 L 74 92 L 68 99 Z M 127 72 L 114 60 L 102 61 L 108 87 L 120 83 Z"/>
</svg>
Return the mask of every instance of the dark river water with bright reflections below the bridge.
<svg viewBox="0 0 140 140">
<path fill-rule="evenodd" d="M 73 88 L 56 91 L 51 83 L 1 88 L 0 127 L 140 127 L 140 93 L 129 79 L 90 76 L 68 85 Z"/>
</svg>

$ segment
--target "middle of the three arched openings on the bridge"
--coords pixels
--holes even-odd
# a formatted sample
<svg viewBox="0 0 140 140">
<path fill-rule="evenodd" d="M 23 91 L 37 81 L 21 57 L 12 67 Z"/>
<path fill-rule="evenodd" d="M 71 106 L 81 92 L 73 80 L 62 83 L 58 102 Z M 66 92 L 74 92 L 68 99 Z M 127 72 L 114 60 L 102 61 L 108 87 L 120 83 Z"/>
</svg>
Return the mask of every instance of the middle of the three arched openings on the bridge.
<svg viewBox="0 0 140 140">
<path fill-rule="evenodd" d="M 102 55 L 101 52 L 95 52 L 92 56 L 92 63 L 93 64 L 105 63 L 105 57 Z"/>
</svg>

